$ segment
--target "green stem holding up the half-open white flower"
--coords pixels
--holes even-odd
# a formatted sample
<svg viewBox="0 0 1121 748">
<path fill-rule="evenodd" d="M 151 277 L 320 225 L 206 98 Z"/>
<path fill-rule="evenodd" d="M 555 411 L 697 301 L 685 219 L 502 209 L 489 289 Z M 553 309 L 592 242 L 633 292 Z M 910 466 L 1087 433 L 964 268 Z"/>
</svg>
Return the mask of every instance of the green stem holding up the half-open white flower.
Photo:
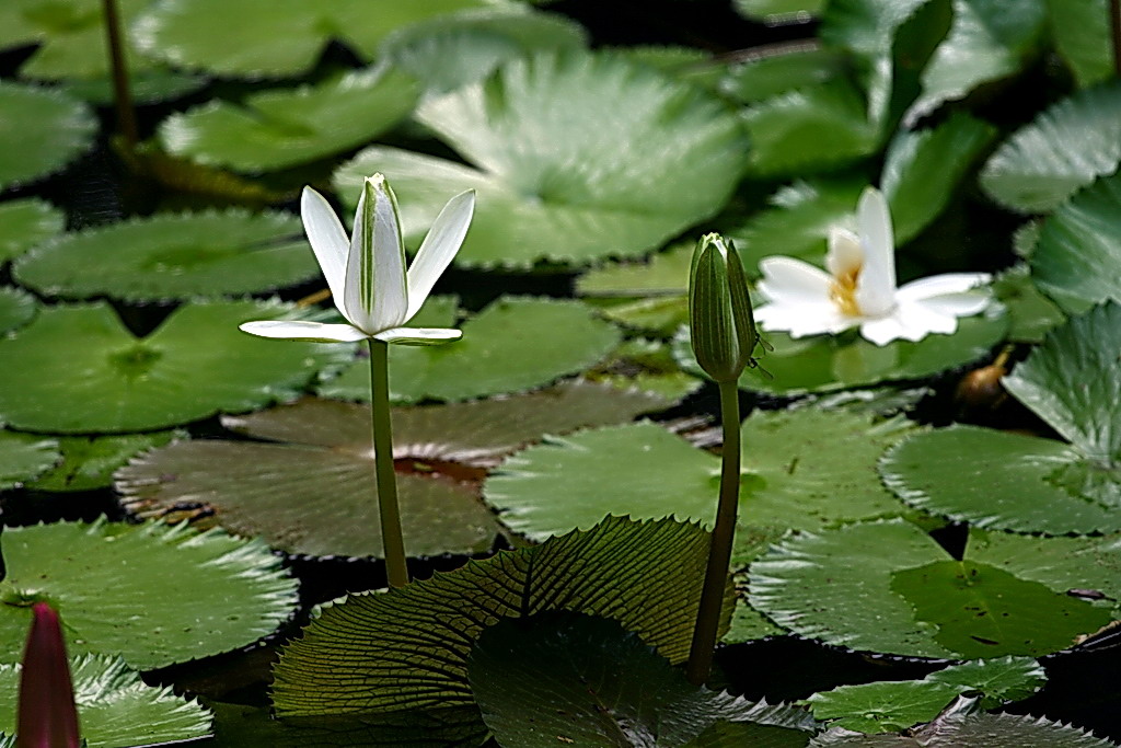
<svg viewBox="0 0 1121 748">
<path fill-rule="evenodd" d="M 405 537 L 397 505 L 397 474 L 393 472 L 393 424 L 389 415 L 389 344 L 370 343 L 370 425 L 373 428 L 373 465 L 378 480 L 378 515 L 381 519 L 381 545 L 390 587 L 409 583 L 405 563 Z"/>
</svg>

